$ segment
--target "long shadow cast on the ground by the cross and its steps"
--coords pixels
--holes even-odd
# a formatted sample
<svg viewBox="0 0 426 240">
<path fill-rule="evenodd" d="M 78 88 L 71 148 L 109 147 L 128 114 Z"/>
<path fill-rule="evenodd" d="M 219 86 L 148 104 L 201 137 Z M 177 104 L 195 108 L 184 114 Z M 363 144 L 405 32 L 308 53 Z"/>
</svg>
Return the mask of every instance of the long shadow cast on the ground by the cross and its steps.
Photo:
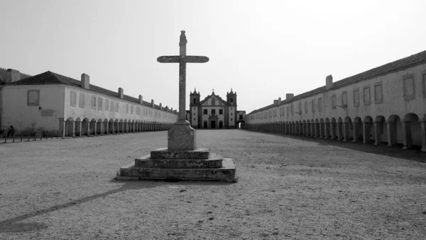
<svg viewBox="0 0 426 240">
<path fill-rule="evenodd" d="M 114 193 L 120 193 L 124 192 L 126 190 L 136 190 L 136 189 L 143 189 L 143 188 L 156 188 L 160 185 L 173 185 L 173 184 L 179 184 L 179 185 L 230 185 L 232 183 L 229 182 L 219 182 L 219 181 L 116 181 L 115 179 L 111 179 L 109 182 L 114 183 L 124 183 L 121 185 L 120 188 L 109 190 L 105 193 L 98 193 L 92 196 L 80 198 L 78 200 L 72 200 L 70 202 L 61 204 L 61 205 L 55 205 L 53 207 L 49 207 L 43 210 L 38 210 L 35 212 L 30 212 L 26 215 L 21 215 L 18 217 L 9 218 L 6 220 L 3 220 L 0 222 L 0 233 L 1 232 L 28 232 L 33 230 L 39 230 L 39 229 L 47 229 L 48 226 L 43 223 L 39 222 L 21 222 L 25 219 L 36 217 L 38 215 L 43 215 L 45 213 L 54 212 L 57 210 L 62 210 L 67 207 L 72 207 L 75 205 L 82 204 L 84 202 L 89 202 L 92 200 L 96 200 L 98 198 L 106 197 L 107 195 L 111 195 Z"/>
</svg>

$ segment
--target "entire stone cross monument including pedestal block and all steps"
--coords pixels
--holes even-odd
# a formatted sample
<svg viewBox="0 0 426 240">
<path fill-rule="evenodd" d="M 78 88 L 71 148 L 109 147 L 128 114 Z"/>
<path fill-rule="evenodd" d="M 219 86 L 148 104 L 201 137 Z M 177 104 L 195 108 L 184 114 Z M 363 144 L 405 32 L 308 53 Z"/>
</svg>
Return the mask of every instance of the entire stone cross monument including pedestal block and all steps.
<svg viewBox="0 0 426 240">
<path fill-rule="evenodd" d="M 180 55 L 162 56 L 157 61 L 179 63 L 179 120 L 168 130 L 168 147 L 155 149 L 151 154 L 135 159 L 135 164 L 120 168 L 118 180 L 178 179 L 236 182 L 236 168 L 232 159 L 197 149 L 195 129 L 185 120 L 185 81 L 187 63 L 204 63 L 209 58 L 186 55 L 185 31 L 180 35 Z"/>
</svg>

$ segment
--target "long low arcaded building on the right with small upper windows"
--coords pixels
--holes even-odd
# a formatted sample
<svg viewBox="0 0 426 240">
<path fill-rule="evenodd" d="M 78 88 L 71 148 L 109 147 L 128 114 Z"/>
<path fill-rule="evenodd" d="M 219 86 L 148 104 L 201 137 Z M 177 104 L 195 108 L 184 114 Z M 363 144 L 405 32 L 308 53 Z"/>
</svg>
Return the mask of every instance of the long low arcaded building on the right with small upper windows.
<svg viewBox="0 0 426 240">
<path fill-rule="evenodd" d="M 426 51 L 253 110 L 246 127 L 426 152 Z"/>
</svg>

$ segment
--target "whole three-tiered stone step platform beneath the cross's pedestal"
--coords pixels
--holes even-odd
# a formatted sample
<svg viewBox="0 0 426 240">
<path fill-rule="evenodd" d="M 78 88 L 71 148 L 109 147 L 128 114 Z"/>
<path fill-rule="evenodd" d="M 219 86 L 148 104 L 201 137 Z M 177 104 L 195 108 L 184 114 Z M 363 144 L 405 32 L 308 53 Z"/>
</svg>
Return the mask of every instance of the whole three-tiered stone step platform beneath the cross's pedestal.
<svg viewBox="0 0 426 240">
<path fill-rule="evenodd" d="M 232 159 L 224 159 L 209 149 L 168 151 L 155 149 L 135 159 L 134 164 L 120 168 L 117 180 L 197 180 L 236 182 Z"/>
</svg>

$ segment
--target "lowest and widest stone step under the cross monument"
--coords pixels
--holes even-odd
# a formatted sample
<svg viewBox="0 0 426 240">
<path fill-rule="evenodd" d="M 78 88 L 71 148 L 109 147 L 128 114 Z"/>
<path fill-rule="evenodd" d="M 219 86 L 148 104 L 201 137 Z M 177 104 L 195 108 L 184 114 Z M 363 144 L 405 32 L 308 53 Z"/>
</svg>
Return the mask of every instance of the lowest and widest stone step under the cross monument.
<svg viewBox="0 0 426 240">
<path fill-rule="evenodd" d="M 131 164 L 120 168 L 117 180 L 197 180 L 236 182 L 236 168 L 232 159 L 223 159 L 222 168 L 139 168 Z"/>
</svg>

